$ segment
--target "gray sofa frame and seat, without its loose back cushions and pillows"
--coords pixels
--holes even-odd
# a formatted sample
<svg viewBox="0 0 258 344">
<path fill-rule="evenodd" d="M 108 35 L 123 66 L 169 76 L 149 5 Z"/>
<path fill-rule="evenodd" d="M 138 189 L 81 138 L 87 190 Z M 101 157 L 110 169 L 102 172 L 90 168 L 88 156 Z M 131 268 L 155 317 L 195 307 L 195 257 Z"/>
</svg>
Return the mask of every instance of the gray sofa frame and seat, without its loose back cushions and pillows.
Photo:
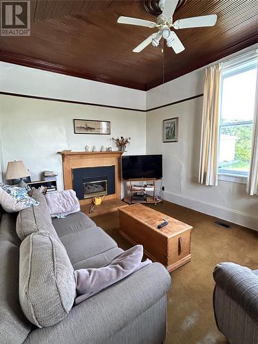
<svg viewBox="0 0 258 344">
<path fill-rule="evenodd" d="M 36 197 L 35 197 L 36 198 Z M 47 210 L 45 209 L 45 212 Z M 49 214 L 45 213 L 49 217 Z M 158 263 L 74 305 L 56 325 L 38 328 L 19 303 L 17 215 L 0 211 L 0 343 L 162 343 L 166 337 L 166 292 L 171 279 Z M 74 269 L 98 268 L 122 252 L 83 213 L 53 219 Z"/>
</svg>

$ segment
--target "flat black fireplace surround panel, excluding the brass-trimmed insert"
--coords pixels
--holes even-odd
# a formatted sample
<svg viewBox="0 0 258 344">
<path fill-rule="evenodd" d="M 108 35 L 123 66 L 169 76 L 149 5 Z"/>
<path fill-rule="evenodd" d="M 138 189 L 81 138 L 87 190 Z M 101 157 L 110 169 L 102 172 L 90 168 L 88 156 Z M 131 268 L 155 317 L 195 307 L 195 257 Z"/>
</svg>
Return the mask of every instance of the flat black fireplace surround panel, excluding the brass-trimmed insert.
<svg viewBox="0 0 258 344">
<path fill-rule="evenodd" d="M 85 200 L 85 181 L 107 180 L 107 195 L 116 193 L 115 166 L 81 167 L 72 169 L 73 189 L 79 200 Z"/>
</svg>

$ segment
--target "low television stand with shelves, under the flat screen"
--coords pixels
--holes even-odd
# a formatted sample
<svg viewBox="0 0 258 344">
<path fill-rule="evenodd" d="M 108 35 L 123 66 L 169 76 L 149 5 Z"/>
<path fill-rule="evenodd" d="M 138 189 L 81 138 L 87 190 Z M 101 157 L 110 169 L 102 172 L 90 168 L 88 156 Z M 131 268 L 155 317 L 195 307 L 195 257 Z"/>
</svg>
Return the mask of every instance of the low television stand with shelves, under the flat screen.
<svg viewBox="0 0 258 344">
<path fill-rule="evenodd" d="M 155 195 L 155 190 L 157 189 L 155 183 L 160 180 L 161 178 L 140 178 L 125 180 L 125 182 L 129 182 L 129 196 L 125 197 L 123 201 L 128 204 L 157 204 L 162 202 L 162 200 L 157 200 Z M 142 185 L 134 185 L 133 182 L 142 182 Z"/>
</svg>

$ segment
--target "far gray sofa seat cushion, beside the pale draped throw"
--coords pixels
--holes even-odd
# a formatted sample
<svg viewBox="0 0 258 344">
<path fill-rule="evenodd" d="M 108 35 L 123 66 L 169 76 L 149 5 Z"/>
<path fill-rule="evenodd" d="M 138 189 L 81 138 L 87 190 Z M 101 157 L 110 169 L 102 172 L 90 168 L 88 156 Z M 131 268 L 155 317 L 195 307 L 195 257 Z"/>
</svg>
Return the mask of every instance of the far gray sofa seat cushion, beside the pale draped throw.
<svg viewBox="0 0 258 344">
<path fill-rule="evenodd" d="M 81 211 L 67 215 L 63 219 L 52 219 L 52 224 L 58 237 L 96 226 L 95 222 Z"/>
</svg>

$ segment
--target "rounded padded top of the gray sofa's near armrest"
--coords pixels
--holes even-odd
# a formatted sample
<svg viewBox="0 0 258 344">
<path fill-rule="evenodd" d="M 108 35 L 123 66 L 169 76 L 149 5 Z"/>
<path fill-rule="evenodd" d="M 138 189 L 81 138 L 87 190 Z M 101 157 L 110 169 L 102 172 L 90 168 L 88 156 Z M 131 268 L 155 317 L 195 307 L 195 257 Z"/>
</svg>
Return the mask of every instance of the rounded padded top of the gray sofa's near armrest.
<svg viewBox="0 0 258 344">
<path fill-rule="evenodd" d="M 25 343 L 105 343 L 164 297 L 170 286 L 164 266 L 150 264 L 74 306 L 56 325 L 32 331 Z"/>
</svg>

